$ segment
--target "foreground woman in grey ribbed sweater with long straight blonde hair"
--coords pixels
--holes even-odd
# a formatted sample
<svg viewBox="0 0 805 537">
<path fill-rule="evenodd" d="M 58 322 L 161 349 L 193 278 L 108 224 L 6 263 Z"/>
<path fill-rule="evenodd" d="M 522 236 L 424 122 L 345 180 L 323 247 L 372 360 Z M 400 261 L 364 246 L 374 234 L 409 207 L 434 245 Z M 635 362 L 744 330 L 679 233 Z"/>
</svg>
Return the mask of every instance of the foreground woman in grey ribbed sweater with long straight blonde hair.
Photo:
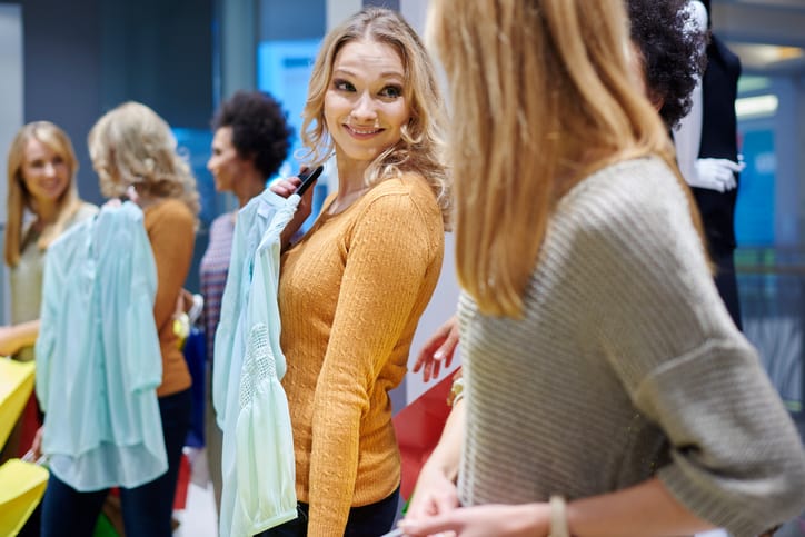
<svg viewBox="0 0 805 537">
<path fill-rule="evenodd" d="M 431 10 L 461 111 L 463 507 L 405 533 L 752 536 L 797 515 L 801 439 L 718 299 L 623 2 Z"/>
</svg>

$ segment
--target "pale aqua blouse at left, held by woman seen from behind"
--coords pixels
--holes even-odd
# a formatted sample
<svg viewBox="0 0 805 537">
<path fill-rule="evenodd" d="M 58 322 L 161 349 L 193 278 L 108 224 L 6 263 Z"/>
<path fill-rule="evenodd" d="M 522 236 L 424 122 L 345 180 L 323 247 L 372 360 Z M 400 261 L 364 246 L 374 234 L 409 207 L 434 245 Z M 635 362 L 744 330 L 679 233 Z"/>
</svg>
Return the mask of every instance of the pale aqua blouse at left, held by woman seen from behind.
<svg viewBox="0 0 805 537">
<path fill-rule="evenodd" d="M 105 207 L 48 249 L 36 345 L 42 451 L 77 490 L 132 488 L 168 469 L 156 292 L 153 253 L 133 203 Z"/>
</svg>

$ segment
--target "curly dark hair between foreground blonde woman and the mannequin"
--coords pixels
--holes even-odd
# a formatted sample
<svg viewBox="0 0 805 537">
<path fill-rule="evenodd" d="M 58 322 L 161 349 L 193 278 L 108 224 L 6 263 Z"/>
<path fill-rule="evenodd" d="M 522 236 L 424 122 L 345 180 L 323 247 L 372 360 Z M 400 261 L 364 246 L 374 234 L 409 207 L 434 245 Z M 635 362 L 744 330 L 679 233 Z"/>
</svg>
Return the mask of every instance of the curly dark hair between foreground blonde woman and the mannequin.
<svg viewBox="0 0 805 537">
<path fill-rule="evenodd" d="M 707 34 L 694 31 L 688 0 L 628 0 L 626 7 L 646 93 L 670 129 L 690 110 L 690 93 L 707 61 Z"/>
</svg>

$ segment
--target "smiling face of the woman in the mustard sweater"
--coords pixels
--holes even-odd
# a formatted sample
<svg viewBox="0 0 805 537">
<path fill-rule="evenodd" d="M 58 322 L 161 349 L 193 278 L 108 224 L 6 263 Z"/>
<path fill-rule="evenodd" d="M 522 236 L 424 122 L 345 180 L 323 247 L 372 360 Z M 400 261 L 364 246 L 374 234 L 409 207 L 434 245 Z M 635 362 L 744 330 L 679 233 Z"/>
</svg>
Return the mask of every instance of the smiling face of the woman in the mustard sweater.
<svg viewBox="0 0 805 537">
<path fill-rule="evenodd" d="M 350 41 L 336 54 L 325 120 L 339 159 L 368 163 L 400 140 L 410 118 L 399 54 L 376 41 Z"/>
</svg>

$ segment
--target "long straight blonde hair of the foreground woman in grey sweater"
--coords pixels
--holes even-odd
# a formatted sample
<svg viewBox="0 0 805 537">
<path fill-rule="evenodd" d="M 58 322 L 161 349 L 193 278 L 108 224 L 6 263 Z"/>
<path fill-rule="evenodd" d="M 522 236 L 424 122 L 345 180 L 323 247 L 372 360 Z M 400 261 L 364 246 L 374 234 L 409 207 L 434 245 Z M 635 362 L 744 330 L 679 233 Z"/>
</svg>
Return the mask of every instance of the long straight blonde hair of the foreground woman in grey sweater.
<svg viewBox="0 0 805 537">
<path fill-rule="evenodd" d="M 623 0 L 434 0 L 428 38 L 455 110 L 458 278 L 481 311 L 521 315 L 550 215 L 590 172 L 657 155 L 685 185 L 628 71 Z"/>
</svg>

